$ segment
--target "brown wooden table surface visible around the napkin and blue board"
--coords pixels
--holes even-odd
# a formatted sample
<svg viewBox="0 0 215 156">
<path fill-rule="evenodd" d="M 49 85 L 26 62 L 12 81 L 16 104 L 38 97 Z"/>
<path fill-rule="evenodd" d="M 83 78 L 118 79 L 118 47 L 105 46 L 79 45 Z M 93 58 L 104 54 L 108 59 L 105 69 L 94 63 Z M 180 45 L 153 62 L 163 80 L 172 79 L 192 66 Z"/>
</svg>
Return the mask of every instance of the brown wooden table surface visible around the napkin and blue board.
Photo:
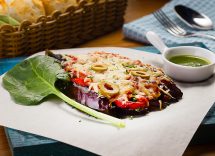
<svg viewBox="0 0 215 156">
<path fill-rule="evenodd" d="M 168 0 L 128 0 L 125 22 L 150 14 L 167 2 Z M 99 46 L 137 47 L 144 46 L 144 44 L 124 39 L 122 29 L 119 29 L 79 47 Z M 0 156 L 11 156 L 3 127 L 0 127 Z M 189 145 L 183 156 L 215 156 L 215 144 Z"/>
</svg>

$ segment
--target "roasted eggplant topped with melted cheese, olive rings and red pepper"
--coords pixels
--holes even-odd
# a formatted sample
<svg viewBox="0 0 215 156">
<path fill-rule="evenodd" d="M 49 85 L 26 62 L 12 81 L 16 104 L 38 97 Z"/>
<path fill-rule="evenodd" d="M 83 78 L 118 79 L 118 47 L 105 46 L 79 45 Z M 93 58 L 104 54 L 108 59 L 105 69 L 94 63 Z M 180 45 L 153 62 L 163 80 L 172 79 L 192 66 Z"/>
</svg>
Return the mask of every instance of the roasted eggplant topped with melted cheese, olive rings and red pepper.
<svg viewBox="0 0 215 156">
<path fill-rule="evenodd" d="M 53 54 L 50 51 L 46 54 L 54 57 L 70 74 L 71 81 L 56 82 L 60 91 L 83 105 L 116 117 L 161 110 L 177 102 L 183 95 L 162 69 L 138 60 L 105 52 L 90 53 L 87 56 Z M 109 64 L 107 61 L 111 59 L 120 61 Z M 131 85 L 122 86 L 122 81 L 119 80 L 122 76 L 117 74 L 113 74 L 114 80 L 110 81 L 111 72 L 122 70 L 118 68 L 123 68 L 122 81 L 132 82 Z"/>
</svg>

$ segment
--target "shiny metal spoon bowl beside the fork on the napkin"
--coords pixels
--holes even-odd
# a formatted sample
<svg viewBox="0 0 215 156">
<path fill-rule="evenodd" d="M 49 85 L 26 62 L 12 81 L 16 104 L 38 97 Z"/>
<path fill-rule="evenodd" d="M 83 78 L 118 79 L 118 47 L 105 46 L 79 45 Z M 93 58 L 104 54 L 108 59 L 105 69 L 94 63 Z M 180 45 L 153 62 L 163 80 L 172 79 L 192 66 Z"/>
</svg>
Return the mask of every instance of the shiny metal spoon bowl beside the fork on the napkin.
<svg viewBox="0 0 215 156">
<path fill-rule="evenodd" d="M 174 9 L 177 16 L 191 28 L 200 30 L 213 29 L 212 20 L 205 14 L 199 13 L 184 5 L 176 5 Z"/>
</svg>

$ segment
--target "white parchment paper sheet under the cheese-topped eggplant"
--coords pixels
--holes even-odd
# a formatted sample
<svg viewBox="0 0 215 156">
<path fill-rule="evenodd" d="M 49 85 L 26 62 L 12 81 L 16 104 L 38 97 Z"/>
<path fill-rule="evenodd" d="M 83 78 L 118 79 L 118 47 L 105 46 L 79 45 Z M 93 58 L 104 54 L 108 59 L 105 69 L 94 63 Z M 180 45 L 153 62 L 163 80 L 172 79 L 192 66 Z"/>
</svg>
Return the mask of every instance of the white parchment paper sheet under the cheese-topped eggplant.
<svg viewBox="0 0 215 156">
<path fill-rule="evenodd" d="M 107 51 L 161 66 L 160 55 L 126 48 L 84 48 L 59 53 Z M 43 54 L 43 53 L 42 53 Z M 177 83 L 183 99 L 162 111 L 125 119 L 118 129 L 72 109 L 57 98 L 38 106 L 15 104 L 0 79 L 0 125 L 52 138 L 100 155 L 182 155 L 215 101 L 215 76 L 201 83 Z"/>
</svg>

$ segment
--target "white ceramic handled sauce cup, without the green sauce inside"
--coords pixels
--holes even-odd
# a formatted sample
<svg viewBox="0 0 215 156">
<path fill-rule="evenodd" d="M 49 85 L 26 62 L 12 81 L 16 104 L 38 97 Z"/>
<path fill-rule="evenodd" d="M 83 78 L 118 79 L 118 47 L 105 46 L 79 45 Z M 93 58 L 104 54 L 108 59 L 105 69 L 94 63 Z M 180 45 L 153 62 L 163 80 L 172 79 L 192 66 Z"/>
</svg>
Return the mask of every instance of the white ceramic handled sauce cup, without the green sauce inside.
<svg viewBox="0 0 215 156">
<path fill-rule="evenodd" d="M 168 48 L 159 36 L 154 32 L 146 33 L 147 39 L 162 53 L 163 68 L 170 77 L 185 82 L 198 82 L 209 78 L 214 74 L 215 54 L 210 50 L 194 46 L 178 46 Z M 190 67 L 175 64 L 169 61 L 169 58 L 180 55 L 191 55 L 204 58 L 210 61 L 210 64 L 200 67 Z"/>
</svg>

